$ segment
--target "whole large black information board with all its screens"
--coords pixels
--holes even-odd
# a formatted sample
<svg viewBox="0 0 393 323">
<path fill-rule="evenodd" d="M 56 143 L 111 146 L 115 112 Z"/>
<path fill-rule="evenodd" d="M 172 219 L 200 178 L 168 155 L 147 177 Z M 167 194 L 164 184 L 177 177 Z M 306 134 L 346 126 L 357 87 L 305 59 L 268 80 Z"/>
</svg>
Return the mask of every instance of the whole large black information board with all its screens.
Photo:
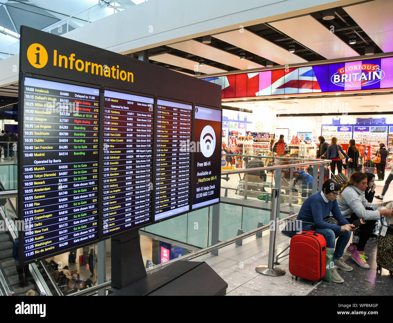
<svg viewBox="0 0 393 323">
<path fill-rule="evenodd" d="M 20 264 L 219 202 L 219 85 L 26 26 L 20 35 Z M 207 125 L 210 156 L 198 143 Z"/>
</svg>

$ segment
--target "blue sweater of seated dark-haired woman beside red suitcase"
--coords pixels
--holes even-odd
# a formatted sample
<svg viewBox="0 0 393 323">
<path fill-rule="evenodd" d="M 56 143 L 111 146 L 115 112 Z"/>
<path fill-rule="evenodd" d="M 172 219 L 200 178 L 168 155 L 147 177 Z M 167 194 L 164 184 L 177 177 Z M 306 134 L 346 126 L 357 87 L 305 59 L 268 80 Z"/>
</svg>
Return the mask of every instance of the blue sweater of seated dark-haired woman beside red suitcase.
<svg viewBox="0 0 393 323">
<path fill-rule="evenodd" d="M 338 220 L 341 226 L 349 224 L 341 214 L 337 200 L 326 203 L 321 196 L 321 192 L 318 192 L 304 201 L 299 211 L 298 220 L 315 223 L 316 227 L 319 229 L 326 228 L 340 232 L 341 226 L 323 221 L 323 218 L 329 217 L 330 213 Z"/>
</svg>

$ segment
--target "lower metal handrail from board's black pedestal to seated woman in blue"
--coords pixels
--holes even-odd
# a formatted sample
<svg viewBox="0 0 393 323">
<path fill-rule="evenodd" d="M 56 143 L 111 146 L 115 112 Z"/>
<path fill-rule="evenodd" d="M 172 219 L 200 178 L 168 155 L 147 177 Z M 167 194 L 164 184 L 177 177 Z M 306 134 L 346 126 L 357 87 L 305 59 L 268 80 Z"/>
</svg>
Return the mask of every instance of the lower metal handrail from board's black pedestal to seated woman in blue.
<svg viewBox="0 0 393 323">
<path fill-rule="evenodd" d="M 298 213 L 292 214 L 292 215 L 290 215 L 289 217 L 286 217 L 286 218 L 283 218 L 283 219 L 279 220 L 279 223 L 280 223 L 280 222 L 284 222 L 284 221 L 286 221 L 286 220 L 290 220 L 290 219 L 292 219 L 292 218 L 294 218 L 294 217 L 297 217 L 297 216 L 298 216 Z M 270 228 L 270 224 L 266 224 L 265 226 L 261 226 L 260 228 L 253 229 L 253 230 L 248 231 L 248 232 L 246 232 L 246 233 L 243 233 L 243 234 L 241 234 L 241 235 L 237 235 L 236 237 L 233 237 L 233 238 L 230 238 L 230 239 L 228 239 L 228 240 L 219 242 L 219 243 L 217 243 L 217 244 L 214 244 L 213 246 L 206 247 L 206 248 L 203 248 L 203 249 L 201 249 L 201 250 L 194 251 L 194 252 L 189 253 L 189 254 L 187 254 L 187 255 L 185 255 L 185 256 L 182 256 L 182 257 L 179 257 L 179 258 L 175 258 L 175 259 L 172 259 L 172 260 L 167 261 L 167 262 L 163 262 L 162 264 L 158 264 L 158 265 L 156 265 L 156 266 L 153 266 L 153 267 L 151 267 L 151 268 L 146 269 L 146 272 L 147 272 L 147 273 L 155 272 L 155 271 L 157 271 L 157 270 L 159 270 L 159 269 L 162 269 L 162 268 L 164 268 L 164 267 L 166 267 L 166 266 L 169 266 L 170 264 L 173 264 L 173 263 L 176 262 L 176 261 L 179 261 L 179 260 L 188 260 L 188 259 L 190 259 L 190 258 L 200 256 L 200 255 L 202 255 L 202 254 L 204 254 L 204 253 L 208 253 L 209 251 L 211 251 L 211 250 L 213 250 L 213 249 L 222 248 L 222 247 L 224 247 L 224 246 L 226 246 L 226 245 L 228 245 L 228 244 L 231 244 L 231 243 L 233 243 L 233 242 L 236 242 L 237 240 L 240 240 L 240 239 L 244 239 L 244 238 L 250 237 L 251 235 L 253 235 L 253 234 L 257 233 L 257 232 L 263 231 L 263 230 L 268 229 L 268 228 Z"/>
</svg>

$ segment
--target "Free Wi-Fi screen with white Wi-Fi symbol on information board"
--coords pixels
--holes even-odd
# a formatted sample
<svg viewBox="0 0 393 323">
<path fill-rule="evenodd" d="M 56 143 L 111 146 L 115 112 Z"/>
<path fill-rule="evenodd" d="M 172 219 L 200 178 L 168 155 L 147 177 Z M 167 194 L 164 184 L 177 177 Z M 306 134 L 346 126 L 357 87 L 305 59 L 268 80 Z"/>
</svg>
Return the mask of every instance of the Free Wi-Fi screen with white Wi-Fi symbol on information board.
<svg viewBox="0 0 393 323">
<path fill-rule="evenodd" d="M 221 180 L 221 110 L 195 106 L 192 208 L 219 202 Z"/>
</svg>

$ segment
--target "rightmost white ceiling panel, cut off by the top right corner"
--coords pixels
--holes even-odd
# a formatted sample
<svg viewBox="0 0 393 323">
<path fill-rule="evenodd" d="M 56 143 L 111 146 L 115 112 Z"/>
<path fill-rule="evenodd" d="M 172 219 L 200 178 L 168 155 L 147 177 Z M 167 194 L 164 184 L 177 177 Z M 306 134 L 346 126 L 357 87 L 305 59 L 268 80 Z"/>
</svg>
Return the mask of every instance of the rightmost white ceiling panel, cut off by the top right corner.
<svg viewBox="0 0 393 323">
<path fill-rule="evenodd" d="M 375 0 L 344 7 L 344 10 L 387 53 L 393 51 L 392 6 L 392 0 Z"/>
</svg>

